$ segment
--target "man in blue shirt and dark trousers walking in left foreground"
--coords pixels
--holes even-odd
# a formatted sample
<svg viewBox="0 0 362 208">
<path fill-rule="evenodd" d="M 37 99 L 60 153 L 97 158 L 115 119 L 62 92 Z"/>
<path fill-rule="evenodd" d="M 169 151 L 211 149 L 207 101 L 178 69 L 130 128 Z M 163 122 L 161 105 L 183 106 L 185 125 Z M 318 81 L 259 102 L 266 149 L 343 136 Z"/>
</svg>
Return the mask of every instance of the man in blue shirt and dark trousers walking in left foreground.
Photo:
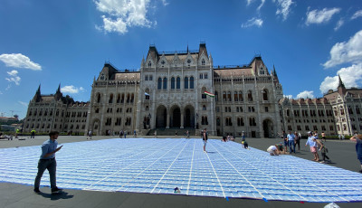
<svg viewBox="0 0 362 208">
<path fill-rule="evenodd" d="M 42 155 L 40 156 L 38 162 L 38 173 L 35 177 L 34 181 L 34 193 L 40 194 L 40 181 L 42 179 L 43 173 L 45 169 L 48 169 L 51 181 L 51 188 L 52 194 L 56 194 L 62 191 L 62 189 L 56 186 L 56 160 L 55 160 L 55 153 L 62 149 L 58 146 L 58 139 L 59 132 L 58 131 L 51 131 L 49 133 L 49 140 L 46 140 L 42 145 Z"/>
</svg>

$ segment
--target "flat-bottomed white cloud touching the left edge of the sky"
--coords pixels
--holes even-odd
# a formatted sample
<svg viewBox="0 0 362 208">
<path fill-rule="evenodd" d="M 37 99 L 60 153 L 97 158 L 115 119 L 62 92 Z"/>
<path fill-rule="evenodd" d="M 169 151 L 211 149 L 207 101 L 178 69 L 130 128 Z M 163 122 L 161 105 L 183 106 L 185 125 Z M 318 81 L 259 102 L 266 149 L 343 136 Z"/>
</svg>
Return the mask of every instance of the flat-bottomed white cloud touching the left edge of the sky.
<svg viewBox="0 0 362 208">
<path fill-rule="evenodd" d="M 24 56 L 22 53 L 1 54 L 0 61 L 5 62 L 5 65 L 7 67 L 24 68 L 33 71 L 42 70 L 41 65 L 33 61 L 30 61 L 30 59 L 27 56 Z"/>
</svg>

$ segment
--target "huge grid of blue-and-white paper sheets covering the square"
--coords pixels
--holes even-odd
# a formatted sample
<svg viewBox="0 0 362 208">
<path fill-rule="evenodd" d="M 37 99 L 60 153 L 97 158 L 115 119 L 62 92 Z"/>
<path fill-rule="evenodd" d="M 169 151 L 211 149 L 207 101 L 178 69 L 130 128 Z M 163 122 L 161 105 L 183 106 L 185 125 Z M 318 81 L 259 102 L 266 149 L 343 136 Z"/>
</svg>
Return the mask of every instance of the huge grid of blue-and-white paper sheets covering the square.
<svg viewBox="0 0 362 208">
<path fill-rule="evenodd" d="M 59 140 L 62 143 L 62 140 Z M 57 185 L 106 192 L 360 202 L 362 175 L 296 156 L 270 156 L 234 142 L 199 138 L 114 138 L 64 144 Z M 41 148 L 0 149 L 0 181 L 31 184 Z M 42 185 L 49 186 L 44 172 Z"/>
</svg>

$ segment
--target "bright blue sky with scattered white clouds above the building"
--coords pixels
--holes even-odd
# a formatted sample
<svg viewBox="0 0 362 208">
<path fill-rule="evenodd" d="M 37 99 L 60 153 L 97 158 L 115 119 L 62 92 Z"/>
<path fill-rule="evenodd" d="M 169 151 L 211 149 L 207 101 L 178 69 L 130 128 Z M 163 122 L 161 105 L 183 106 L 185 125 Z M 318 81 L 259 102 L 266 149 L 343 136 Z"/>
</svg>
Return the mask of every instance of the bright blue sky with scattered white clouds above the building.
<svg viewBox="0 0 362 208">
<path fill-rule="evenodd" d="M 216 66 L 260 53 L 294 99 L 322 97 L 338 75 L 362 87 L 360 0 L 2 0 L 0 27 L 0 116 L 24 118 L 39 84 L 88 101 L 105 61 L 137 70 L 149 44 L 205 41 Z"/>
</svg>

